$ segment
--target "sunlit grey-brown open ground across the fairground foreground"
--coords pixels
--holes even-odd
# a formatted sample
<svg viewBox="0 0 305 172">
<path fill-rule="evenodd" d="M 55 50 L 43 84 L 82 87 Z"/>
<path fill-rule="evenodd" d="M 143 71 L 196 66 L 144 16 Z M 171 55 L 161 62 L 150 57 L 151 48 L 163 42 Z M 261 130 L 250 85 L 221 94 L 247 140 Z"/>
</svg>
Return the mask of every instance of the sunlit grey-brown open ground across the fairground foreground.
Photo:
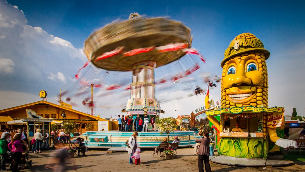
<svg viewBox="0 0 305 172">
<path fill-rule="evenodd" d="M 193 148 L 180 148 L 178 149 L 178 157 L 175 159 L 166 160 L 162 157 L 152 157 L 152 150 L 142 150 L 141 152 L 141 164 L 130 165 L 128 164 L 129 155 L 127 152 L 114 152 L 107 153 L 106 150 L 94 149 L 90 150 L 85 157 L 75 157 L 77 164 L 77 171 L 198 171 L 198 156 L 192 155 Z M 45 164 L 48 160 L 55 156 L 54 150 L 44 151 L 41 154 L 35 154 L 30 152 L 30 159 L 33 161 L 33 166 L 30 169 L 20 169 L 21 171 L 51 171 L 45 169 Z M 271 159 L 282 159 L 282 156 L 271 156 Z M 221 165 L 212 163 L 212 171 L 290 171 L 299 172 L 305 171 L 305 163 L 296 161 L 294 165 L 288 167 L 267 167 L 263 169 L 261 167 L 249 168 L 249 167 L 233 167 L 227 165 Z M 8 167 L 7 167 L 8 168 Z M 72 164 L 68 165 L 68 168 L 74 171 Z"/>
</svg>

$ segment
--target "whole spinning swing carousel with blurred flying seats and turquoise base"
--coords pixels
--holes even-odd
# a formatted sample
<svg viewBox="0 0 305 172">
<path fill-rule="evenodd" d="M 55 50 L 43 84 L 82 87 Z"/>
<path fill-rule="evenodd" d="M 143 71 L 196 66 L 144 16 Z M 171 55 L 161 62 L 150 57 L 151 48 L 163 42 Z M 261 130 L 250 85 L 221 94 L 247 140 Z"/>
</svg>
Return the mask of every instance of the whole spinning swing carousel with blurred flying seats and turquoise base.
<svg viewBox="0 0 305 172">
<path fill-rule="evenodd" d="M 192 48 L 192 39 L 188 27 L 163 17 L 142 18 L 131 13 L 129 20 L 107 24 L 84 42 L 88 61 L 62 88 L 58 101 L 91 108 L 92 115 L 93 108 L 120 108 L 125 116 L 135 118 L 140 114 L 143 119 L 146 114 L 149 119 L 156 119 L 164 113 L 160 104 L 176 99 L 170 93 L 174 81 L 179 82 L 181 90 L 177 100 L 192 96 L 203 100 L 205 90 L 200 86 L 219 80 L 203 56 Z M 151 124 L 148 129 L 151 130 Z M 89 131 L 83 137 L 89 147 L 118 150 L 125 146 L 119 141 L 121 137 L 130 135 Z M 174 135 L 181 140 L 179 146 L 195 145 L 193 131 L 170 134 L 170 141 Z M 165 137 L 159 132 L 139 136 L 141 147 L 146 148 L 158 146 Z"/>
</svg>

